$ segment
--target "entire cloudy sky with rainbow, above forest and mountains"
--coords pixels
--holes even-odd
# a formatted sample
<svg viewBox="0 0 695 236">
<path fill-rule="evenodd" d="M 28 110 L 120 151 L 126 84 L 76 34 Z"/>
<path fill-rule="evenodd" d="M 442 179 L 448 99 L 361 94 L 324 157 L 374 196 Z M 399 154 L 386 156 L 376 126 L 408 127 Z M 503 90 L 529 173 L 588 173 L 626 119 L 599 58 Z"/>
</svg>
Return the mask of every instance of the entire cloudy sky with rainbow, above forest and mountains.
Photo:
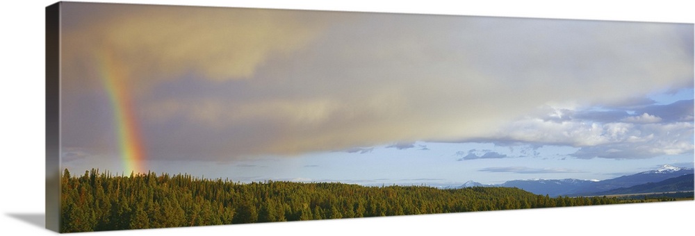
<svg viewBox="0 0 695 236">
<path fill-rule="evenodd" d="M 63 3 L 61 165 L 461 185 L 693 167 L 693 24 Z"/>
</svg>

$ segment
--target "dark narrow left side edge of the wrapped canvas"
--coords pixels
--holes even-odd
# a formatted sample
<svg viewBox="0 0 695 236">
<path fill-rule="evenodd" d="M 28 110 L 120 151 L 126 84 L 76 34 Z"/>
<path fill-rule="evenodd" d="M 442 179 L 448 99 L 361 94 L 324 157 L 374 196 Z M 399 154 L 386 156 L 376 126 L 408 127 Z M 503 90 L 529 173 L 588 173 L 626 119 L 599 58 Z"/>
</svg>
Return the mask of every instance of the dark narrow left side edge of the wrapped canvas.
<svg viewBox="0 0 695 236">
<path fill-rule="evenodd" d="M 46 7 L 46 223 L 60 232 L 60 7 Z"/>
</svg>

